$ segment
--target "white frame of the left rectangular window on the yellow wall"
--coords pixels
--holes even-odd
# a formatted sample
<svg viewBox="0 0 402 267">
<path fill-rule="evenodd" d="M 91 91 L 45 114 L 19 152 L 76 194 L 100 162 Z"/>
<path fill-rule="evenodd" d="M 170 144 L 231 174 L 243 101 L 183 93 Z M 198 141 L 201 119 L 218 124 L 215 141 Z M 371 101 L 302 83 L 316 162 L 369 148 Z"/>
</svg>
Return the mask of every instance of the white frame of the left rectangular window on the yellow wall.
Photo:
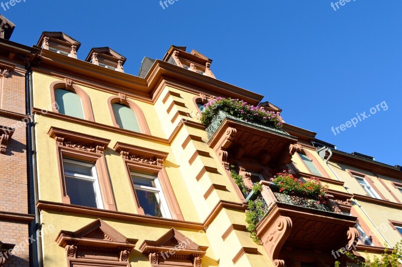
<svg viewBox="0 0 402 267">
<path fill-rule="evenodd" d="M 63 158 L 63 163 L 64 162 L 91 168 L 92 176 L 70 173 L 70 172 L 66 172 L 65 170 L 63 170 L 64 178 L 73 178 L 73 179 L 80 179 L 80 180 L 84 180 L 84 181 L 93 182 L 93 190 L 95 192 L 96 206 L 98 209 L 104 209 L 104 203 L 103 203 L 103 199 L 102 199 L 102 194 L 100 193 L 99 180 L 97 178 L 95 164 L 86 163 L 86 162 L 82 162 L 79 160 L 73 160 L 73 159 L 68 159 L 68 158 Z M 68 195 L 68 192 L 67 192 L 67 195 Z"/>
</svg>

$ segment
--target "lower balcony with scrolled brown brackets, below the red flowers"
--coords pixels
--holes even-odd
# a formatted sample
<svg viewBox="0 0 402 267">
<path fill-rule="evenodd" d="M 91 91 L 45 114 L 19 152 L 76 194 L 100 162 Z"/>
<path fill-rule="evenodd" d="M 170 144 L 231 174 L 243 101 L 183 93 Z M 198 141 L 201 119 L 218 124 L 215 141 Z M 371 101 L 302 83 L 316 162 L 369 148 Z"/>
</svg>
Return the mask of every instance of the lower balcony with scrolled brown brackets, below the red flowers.
<svg viewBox="0 0 402 267">
<path fill-rule="evenodd" d="M 356 217 L 344 215 L 337 204 L 345 209 L 348 199 L 330 195 L 327 204 L 318 204 L 279 193 L 273 183 L 261 181 L 261 185 L 261 192 L 250 193 L 247 200 L 259 201 L 263 209 L 256 234 L 275 266 L 333 265 L 333 251 L 346 245 L 352 248 L 358 238 L 353 228 Z"/>
</svg>

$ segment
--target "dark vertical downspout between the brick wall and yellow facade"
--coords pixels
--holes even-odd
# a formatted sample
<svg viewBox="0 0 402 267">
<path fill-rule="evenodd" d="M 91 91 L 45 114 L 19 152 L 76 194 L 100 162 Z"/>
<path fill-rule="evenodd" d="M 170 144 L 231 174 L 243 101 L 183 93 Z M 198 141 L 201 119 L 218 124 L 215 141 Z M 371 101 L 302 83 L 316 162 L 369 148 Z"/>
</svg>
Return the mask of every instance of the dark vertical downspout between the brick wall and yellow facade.
<svg viewBox="0 0 402 267">
<path fill-rule="evenodd" d="M 39 53 L 39 52 L 38 52 Z M 38 54 L 37 53 L 37 54 Z M 36 58 L 37 54 L 34 56 Z M 38 237 L 38 230 L 41 229 L 40 222 L 40 211 L 36 207 L 36 202 L 39 199 L 38 194 L 38 180 L 37 180 L 37 166 L 36 166 L 36 143 L 35 143 L 35 120 L 32 115 L 33 107 L 33 82 L 32 82 L 32 65 L 31 61 L 27 60 L 27 68 L 25 74 L 25 88 L 26 88 L 26 113 L 30 116 L 30 121 L 27 127 L 27 144 L 28 144 L 28 173 L 29 173 L 29 184 L 30 184 L 30 197 L 29 197 L 29 210 L 30 213 L 35 214 L 35 222 L 31 223 L 30 234 L 35 240 L 30 244 L 30 250 L 32 251 L 33 266 L 42 267 L 42 239 Z M 30 253 L 31 254 L 31 253 Z"/>
</svg>

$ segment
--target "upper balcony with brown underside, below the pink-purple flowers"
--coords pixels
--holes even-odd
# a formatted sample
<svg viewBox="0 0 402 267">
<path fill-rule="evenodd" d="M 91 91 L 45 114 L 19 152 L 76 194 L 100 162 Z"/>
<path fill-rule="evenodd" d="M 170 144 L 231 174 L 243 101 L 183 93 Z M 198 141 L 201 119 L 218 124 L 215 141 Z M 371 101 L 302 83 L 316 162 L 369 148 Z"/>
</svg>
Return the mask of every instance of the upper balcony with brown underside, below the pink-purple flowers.
<svg viewBox="0 0 402 267">
<path fill-rule="evenodd" d="M 219 110 L 206 128 L 209 146 L 226 169 L 230 158 L 253 158 L 262 165 L 283 166 L 296 151 L 297 139 L 272 125 L 244 121 Z"/>
</svg>

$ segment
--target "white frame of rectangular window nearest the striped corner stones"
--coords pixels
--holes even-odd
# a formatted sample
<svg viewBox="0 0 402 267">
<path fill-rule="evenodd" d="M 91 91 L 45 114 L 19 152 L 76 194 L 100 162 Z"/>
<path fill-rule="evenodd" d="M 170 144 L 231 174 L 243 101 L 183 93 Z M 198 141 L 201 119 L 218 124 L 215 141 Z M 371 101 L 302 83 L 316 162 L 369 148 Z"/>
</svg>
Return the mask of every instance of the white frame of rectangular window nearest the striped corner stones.
<svg viewBox="0 0 402 267">
<path fill-rule="evenodd" d="M 144 185 L 136 185 L 134 183 L 134 180 L 133 180 L 133 175 L 138 176 L 138 177 L 143 178 L 143 179 L 153 180 L 154 183 L 155 183 L 155 187 L 149 187 L 149 186 L 144 186 Z M 170 210 L 169 210 L 169 207 L 167 205 L 167 201 L 166 201 L 165 195 L 163 193 L 162 186 L 161 186 L 161 184 L 159 182 L 158 176 L 156 174 L 147 174 L 147 173 L 134 172 L 134 171 L 130 172 L 130 176 L 131 176 L 131 181 L 132 181 L 132 183 L 134 185 L 134 189 L 139 189 L 139 190 L 142 190 L 142 191 L 148 191 L 148 192 L 152 192 L 152 193 L 157 193 L 159 195 L 159 200 L 160 200 L 159 204 L 162 207 L 162 209 L 161 209 L 162 216 L 163 216 L 163 218 L 171 219 L 172 215 L 170 214 Z"/>
</svg>

